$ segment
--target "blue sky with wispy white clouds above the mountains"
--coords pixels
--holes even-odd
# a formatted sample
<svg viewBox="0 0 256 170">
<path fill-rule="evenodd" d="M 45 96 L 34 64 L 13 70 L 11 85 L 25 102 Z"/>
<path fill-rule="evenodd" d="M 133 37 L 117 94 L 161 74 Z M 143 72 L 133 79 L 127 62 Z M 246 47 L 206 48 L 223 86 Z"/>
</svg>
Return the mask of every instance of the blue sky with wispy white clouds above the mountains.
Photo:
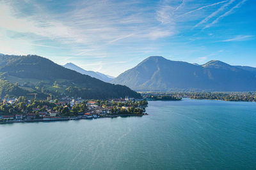
<svg viewBox="0 0 256 170">
<path fill-rule="evenodd" d="M 118 76 L 149 56 L 256 67 L 254 0 L 0 0 L 0 53 Z"/>
</svg>

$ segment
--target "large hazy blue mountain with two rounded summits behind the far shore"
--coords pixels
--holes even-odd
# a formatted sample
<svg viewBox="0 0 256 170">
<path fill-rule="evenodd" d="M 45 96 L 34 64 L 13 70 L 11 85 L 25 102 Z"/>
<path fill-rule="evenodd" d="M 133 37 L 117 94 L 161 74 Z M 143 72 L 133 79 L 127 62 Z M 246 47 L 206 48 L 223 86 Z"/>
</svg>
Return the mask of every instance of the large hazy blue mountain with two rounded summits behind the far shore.
<svg viewBox="0 0 256 170">
<path fill-rule="evenodd" d="M 211 60 L 200 66 L 160 56 L 148 57 L 138 66 L 120 74 L 111 83 L 143 91 L 256 90 L 256 76 L 252 71 L 230 66 L 219 60 Z"/>
</svg>

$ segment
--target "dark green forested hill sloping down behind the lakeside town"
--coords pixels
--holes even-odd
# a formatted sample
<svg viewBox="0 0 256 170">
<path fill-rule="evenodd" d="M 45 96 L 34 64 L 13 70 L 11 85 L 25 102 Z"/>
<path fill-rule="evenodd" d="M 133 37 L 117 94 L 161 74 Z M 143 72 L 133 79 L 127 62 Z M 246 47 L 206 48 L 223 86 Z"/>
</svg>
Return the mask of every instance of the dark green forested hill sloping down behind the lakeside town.
<svg viewBox="0 0 256 170">
<path fill-rule="evenodd" d="M 0 55 L 0 97 L 72 96 L 86 99 L 141 97 L 123 85 L 113 85 L 60 66 L 37 55 Z"/>
</svg>

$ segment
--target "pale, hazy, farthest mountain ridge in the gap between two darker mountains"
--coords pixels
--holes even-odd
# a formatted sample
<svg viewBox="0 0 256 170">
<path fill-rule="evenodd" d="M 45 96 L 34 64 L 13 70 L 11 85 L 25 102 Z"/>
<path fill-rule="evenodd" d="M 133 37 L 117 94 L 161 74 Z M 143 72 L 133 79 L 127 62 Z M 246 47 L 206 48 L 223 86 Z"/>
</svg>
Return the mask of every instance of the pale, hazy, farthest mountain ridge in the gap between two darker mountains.
<svg viewBox="0 0 256 170">
<path fill-rule="evenodd" d="M 97 79 L 105 81 L 105 82 L 110 82 L 111 80 L 113 80 L 113 78 L 111 78 L 111 76 L 108 76 L 106 74 L 102 74 L 99 72 L 87 71 L 85 69 L 82 69 L 81 67 L 76 66 L 75 64 L 73 64 L 71 62 L 65 64 L 63 67 L 72 69 L 74 71 L 77 71 L 78 73 L 85 74 L 85 75 L 97 78 Z"/>
</svg>

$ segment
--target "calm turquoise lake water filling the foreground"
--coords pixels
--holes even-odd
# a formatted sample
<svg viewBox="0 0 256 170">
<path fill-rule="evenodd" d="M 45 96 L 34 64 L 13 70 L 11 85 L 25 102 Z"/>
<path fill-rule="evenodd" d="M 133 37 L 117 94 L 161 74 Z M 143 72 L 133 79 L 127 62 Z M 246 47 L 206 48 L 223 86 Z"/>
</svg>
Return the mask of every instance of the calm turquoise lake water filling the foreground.
<svg viewBox="0 0 256 170">
<path fill-rule="evenodd" d="M 0 125 L 0 169 L 255 169 L 256 103 L 150 101 L 148 116 Z"/>
</svg>

